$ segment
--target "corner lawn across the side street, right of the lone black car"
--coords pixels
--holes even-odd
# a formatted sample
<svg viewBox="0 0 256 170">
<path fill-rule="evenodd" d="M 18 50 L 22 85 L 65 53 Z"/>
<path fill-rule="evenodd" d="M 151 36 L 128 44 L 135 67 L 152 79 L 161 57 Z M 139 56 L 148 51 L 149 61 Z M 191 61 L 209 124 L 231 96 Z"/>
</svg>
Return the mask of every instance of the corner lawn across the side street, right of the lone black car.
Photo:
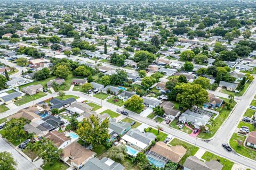
<svg viewBox="0 0 256 170">
<path fill-rule="evenodd" d="M 230 147 L 233 148 L 238 154 L 241 154 L 245 157 L 251 158 L 253 160 L 256 160 L 256 151 L 252 150 L 250 148 L 246 148 L 243 145 L 238 146 L 237 141 L 241 140 L 242 142 L 245 142 L 245 135 L 233 133 L 232 137 L 230 138 L 229 144 Z"/>
</svg>

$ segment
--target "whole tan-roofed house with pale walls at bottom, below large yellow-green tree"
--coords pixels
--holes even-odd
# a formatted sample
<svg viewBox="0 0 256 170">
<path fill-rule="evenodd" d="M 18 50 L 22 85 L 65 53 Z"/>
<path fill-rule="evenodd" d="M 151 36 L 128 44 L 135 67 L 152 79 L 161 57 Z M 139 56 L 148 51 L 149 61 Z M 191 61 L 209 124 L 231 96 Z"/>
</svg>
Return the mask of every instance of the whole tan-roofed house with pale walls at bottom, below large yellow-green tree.
<svg viewBox="0 0 256 170">
<path fill-rule="evenodd" d="M 81 168 L 88 160 L 95 156 L 95 152 L 86 149 L 77 142 L 73 142 L 63 148 L 61 159 L 70 166 Z"/>
</svg>

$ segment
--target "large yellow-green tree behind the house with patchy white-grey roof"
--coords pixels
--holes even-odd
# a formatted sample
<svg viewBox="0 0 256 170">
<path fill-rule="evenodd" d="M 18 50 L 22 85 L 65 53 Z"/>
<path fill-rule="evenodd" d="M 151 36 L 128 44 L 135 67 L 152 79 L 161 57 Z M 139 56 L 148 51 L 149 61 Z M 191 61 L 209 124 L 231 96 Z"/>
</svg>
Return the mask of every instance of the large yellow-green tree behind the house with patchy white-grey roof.
<svg viewBox="0 0 256 170">
<path fill-rule="evenodd" d="M 174 88 L 178 92 L 177 101 L 186 108 L 203 106 L 209 101 L 208 92 L 199 84 L 181 83 Z"/>
</svg>

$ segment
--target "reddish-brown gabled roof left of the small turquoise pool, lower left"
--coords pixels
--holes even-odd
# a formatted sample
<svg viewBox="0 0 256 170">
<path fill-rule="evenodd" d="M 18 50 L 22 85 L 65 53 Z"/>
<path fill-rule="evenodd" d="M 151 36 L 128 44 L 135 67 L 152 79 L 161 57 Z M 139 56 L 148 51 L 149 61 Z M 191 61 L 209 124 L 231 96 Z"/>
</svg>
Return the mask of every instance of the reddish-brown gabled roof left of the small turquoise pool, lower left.
<svg viewBox="0 0 256 170">
<path fill-rule="evenodd" d="M 64 134 L 59 131 L 51 131 L 45 135 L 45 138 L 50 139 L 55 146 L 60 147 L 62 143 L 70 140 L 70 138 L 66 137 Z"/>
</svg>

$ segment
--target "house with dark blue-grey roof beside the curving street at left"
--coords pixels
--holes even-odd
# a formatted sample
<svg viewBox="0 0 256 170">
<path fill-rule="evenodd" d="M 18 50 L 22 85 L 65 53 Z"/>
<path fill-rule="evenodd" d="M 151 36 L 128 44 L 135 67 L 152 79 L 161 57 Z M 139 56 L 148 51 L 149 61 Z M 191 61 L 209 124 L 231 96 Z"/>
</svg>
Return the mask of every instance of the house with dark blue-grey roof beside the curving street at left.
<svg viewBox="0 0 256 170">
<path fill-rule="evenodd" d="M 50 100 L 50 108 L 53 109 L 53 108 L 58 108 L 59 110 L 63 109 L 63 108 L 66 108 L 68 106 L 70 106 L 71 104 L 75 103 L 76 102 L 76 99 L 71 97 L 71 98 L 68 98 L 66 100 L 61 100 L 61 99 L 58 99 L 58 98 L 53 98 Z"/>
</svg>

